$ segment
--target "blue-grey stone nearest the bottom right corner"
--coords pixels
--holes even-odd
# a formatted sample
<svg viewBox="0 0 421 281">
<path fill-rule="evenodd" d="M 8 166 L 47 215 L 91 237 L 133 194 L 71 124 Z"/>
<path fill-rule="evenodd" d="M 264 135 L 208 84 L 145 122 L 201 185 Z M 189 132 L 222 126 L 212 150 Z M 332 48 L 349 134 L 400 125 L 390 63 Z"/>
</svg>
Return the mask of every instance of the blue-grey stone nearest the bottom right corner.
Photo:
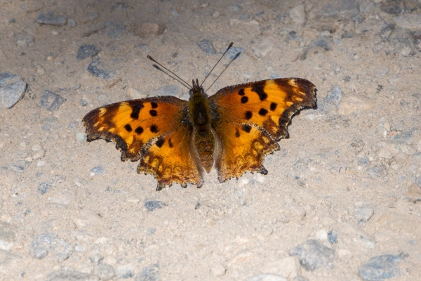
<svg viewBox="0 0 421 281">
<path fill-rule="evenodd" d="M 373 256 L 360 266 L 358 274 L 366 281 L 381 281 L 395 277 L 401 273 L 398 263 L 406 259 L 408 254 L 399 255 L 385 254 L 382 256 Z"/>
</svg>

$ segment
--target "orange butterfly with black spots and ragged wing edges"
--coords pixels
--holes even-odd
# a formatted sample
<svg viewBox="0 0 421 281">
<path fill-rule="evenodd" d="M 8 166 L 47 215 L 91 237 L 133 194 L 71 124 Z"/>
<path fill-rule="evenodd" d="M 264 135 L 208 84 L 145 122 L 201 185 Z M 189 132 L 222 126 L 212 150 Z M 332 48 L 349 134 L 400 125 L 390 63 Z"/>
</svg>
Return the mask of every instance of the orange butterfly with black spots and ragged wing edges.
<svg viewBox="0 0 421 281">
<path fill-rule="evenodd" d="M 140 159 L 138 173 L 153 174 L 156 190 L 200 188 L 203 169 L 213 166 L 221 183 L 246 171 L 267 174 L 263 158 L 279 150 L 291 117 L 316 106 L 314 84 L 301 78 L 227 86 L 210 97 L 196 79 L 189 94 L 188 101 L 159 96 L 92 110 L 83 117 L 87 140 L 116 143 L 122 161 Z"/>
</svg>

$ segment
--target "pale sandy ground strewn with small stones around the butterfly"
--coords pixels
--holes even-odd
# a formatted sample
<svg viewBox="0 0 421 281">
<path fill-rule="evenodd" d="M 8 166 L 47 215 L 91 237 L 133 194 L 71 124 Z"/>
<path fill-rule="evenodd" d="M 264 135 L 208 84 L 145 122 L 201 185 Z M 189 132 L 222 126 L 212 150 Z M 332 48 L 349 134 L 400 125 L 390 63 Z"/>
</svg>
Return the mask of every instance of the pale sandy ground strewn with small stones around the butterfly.
<svg viewBox="0 0 421 281">
<path fill-rule="evenodd" d="M 188 98 L 146 55 L 200 81 L 230 41 L 209 94 L 318 89 L 267 176 L 156 192 L 86 142 L 95 107 Z M 421 280 L 420 41 L 415 0 L 1 0 L 0 72 L 27 89 L 0 110 L 0 280 Z"/>
</svg>

